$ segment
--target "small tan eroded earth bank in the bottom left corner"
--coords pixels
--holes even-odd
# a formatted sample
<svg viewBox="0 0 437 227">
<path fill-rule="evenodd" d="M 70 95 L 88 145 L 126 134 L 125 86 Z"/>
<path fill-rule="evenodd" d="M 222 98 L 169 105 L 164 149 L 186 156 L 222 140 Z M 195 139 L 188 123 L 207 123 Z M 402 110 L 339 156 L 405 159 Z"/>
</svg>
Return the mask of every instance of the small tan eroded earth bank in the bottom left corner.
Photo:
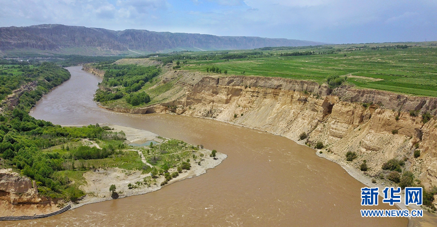
<svg viewBox="0 0 437 227">
<path fill-rule="evenodd" d="M 0 216 L 45 214 L 60 210 L 56 203 L 38 195 L 35 181 L 12 169 L 0 169 Z"/>
</svg>

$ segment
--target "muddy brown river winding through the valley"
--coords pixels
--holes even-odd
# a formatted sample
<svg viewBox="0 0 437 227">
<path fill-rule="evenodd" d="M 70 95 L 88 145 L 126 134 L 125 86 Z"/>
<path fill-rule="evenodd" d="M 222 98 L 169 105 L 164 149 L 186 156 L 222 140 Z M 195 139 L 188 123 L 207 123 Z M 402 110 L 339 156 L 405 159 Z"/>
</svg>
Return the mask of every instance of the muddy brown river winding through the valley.
<svg viewBox="0 0 437 227">
<path fill-rule="evenodd" d="M 111 123 L 150 130 L 228 158 L 206 174 L 153 193 L 3 226 L 407 226 L 406 218 L 361 217 L 360 209 L 395 207 L 381 200 L 377 207 L 362 207 L 365 185 L 306 146 L 214 120 L 107 111 L 92 100 L 101 79 L 80 66 L 67 69 L 71 79 L 44 97 L 32 116 L 61 125 Z"/>
</svg>

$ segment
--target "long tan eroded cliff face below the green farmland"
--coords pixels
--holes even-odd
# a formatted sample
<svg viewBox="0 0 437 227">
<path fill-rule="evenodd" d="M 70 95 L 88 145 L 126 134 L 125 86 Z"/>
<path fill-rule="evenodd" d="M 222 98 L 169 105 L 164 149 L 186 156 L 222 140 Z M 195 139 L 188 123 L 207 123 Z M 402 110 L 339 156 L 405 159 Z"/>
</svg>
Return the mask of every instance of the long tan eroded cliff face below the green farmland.
<svg viewBox="0 0 437 227">
<path fill-rule="evenodd" d="M 387 160 L 404 159 L 425 187 L 437 186 L 437 119 L 423 124 L 420 115 L 436 114 L 436 98 L 349 87 L 331 90 L 316 82 L 284 78 L 203 75 L 194 80 L 199 75 L 176 74 L 180 75 L 176 86 L 184 87 L 185 95 L 165 104 L 121 111 L 174 112 L 263 130 L 310 146 L 321 141 L 323 151 L 329 149 L 339 160 L 345 160 L 348 151 L 356 152 L 358 158 L 347 163 L 359 169 L 366 160 L 368 174 L 375 177 Z M 411 116 L 411 110 L 419 115 Z M 299 141 L 302 132 L 308 138 Z M 416 143 L 419 158 L 413 157 Z"/>
</svg>

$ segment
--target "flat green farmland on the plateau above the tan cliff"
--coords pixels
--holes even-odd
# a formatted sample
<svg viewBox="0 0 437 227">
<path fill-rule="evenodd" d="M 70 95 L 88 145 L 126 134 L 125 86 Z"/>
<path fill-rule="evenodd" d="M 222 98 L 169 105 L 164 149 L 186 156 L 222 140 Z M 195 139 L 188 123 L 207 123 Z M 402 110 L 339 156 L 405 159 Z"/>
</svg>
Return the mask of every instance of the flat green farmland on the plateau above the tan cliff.
<svg viewBox="0 0 437 227">
<path fill-rule="evenodd" d="M 320 84 L 326 82 L 326 77 L 330 75 L 348 75 L 348 84 L 362 88 L 437 97 L 436 43 L 406 43 L 406 49 L 394 48 L 394 45 L 257 49 L 255 51 L 263 51 L 262 56 L 229 60 L 187 60 L 186 63 L 181 59 L 181 69 L 206 72 L 206 67 L 215 66 L 222 72 L 227 70 L 230 75 L 284 77 L 316 81 Z M 334 50 L 334 53 L 327 53 L 330 50 Z M 281 56 L 281 53 L 299 51 L 314 51 L 314 54 Z M 220 54 L 244 52 L 245 50 L 188 52 L 181 53 L 181 56 L 206 54 L 212 59 Z"/>
</svg>

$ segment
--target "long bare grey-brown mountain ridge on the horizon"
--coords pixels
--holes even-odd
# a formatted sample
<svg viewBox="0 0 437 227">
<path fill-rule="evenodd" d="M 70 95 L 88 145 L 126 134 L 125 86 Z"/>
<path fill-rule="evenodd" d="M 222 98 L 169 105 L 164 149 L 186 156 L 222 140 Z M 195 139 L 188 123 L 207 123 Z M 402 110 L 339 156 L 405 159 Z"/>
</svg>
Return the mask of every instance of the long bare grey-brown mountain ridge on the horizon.
<svg viewBox="0 0 437 227">
<path fill-rule="evenodd" d="M 255 49 L 280 46 L 311 46 L 323 43 L 294 39 L 248 36 L 151 32 L 128 29 L 112 31 L 101 28 L 42 24 L 29 27 L 1 27 L 0 50 L 34 49 L 48 53 L 115 55 L 140 51 L 153 53 L 171 50 Z M 134 51 L 133 51 L 134 50 Z"/>
</svg>

